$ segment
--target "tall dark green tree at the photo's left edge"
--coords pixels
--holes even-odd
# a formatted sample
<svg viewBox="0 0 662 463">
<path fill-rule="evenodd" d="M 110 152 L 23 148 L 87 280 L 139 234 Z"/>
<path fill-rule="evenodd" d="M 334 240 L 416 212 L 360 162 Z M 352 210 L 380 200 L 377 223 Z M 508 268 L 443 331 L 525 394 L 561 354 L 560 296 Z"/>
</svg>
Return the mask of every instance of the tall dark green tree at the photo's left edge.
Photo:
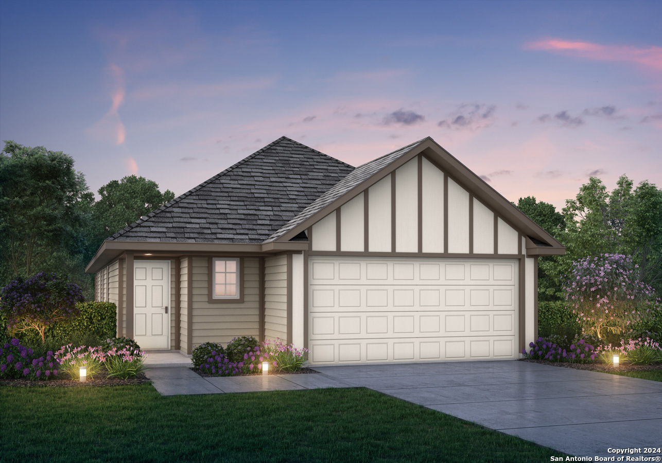
<svg viewBox="0 0 662 463">
<path fill-rule="evenodd" d="M 9 273 L 28 277 L 83 246 L 85 177 L 62 151 L 5 142 L 0 152 L 0 245 Z M 89 200 L 89 198 L 88 198 Z"/>
</svg>

